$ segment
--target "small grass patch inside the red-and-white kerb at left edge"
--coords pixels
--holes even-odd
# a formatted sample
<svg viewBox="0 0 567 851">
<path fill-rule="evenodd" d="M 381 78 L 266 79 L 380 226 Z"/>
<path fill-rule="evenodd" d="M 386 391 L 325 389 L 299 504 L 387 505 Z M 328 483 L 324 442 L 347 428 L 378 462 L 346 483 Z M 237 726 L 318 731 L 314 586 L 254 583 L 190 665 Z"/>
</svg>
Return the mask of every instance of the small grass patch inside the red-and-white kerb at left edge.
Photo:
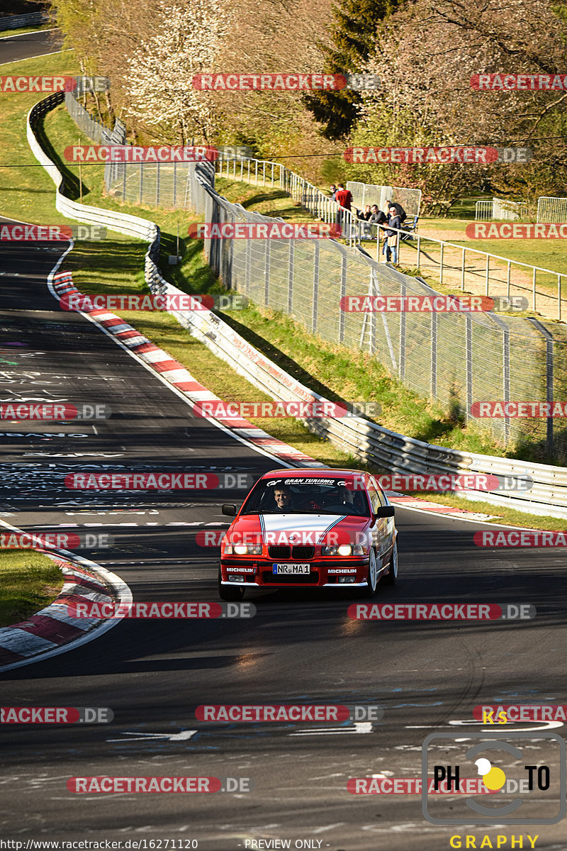
<svg viewBox="0 0 567 851">
<path fill-rule="evenodd" d="M 0 551 L 0 626 L 25 620 L 53 603 L 62 587 L 60 568 L 42 553 Z"/>
</svg>

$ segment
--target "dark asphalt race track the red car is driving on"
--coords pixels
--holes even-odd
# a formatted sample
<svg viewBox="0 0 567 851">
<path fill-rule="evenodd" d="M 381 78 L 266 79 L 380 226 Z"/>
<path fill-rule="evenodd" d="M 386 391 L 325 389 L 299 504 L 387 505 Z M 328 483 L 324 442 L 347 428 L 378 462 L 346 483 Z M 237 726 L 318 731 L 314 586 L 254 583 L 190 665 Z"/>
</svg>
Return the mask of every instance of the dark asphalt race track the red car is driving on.
<svg viewBox="0 0 567 851">
<path fill-rule="evenodd" d="M 65 475 L 126 468 L 258 477 L 278 463 L 193 417 L 108 335 L 61 311 L 47 286 L 60 248 L 0 250 L 2 401 L 112 409 L 111 419 L 79 424 L 3 421 L 0 519 L 25 530 L 111 534 L 111 548 L 82 555 L 118 574 L 135 601 L 216 601 L 216 552 L 196 536 L 226 528 L 220 505 L 242 492 L 98 494 L 65 488 Z M 475 705 L 567 703 L 560 551 L 480 550 L 473 534 L 487 526 L 419 511 L 397 509 L 396 523 L 400 580 L 381 588 L 377 603 L 531 603 L 536 618 L 364 622 L 347 615 L 351 603 L 364 602 L 354 591 L 290 589 L 249 593 L 258 610 L 251 620 L 123 620 L 80 648 L 0 673 L 3 706 L 114 712 L 106 725 L 3 725 L 0 837 L 23 848 L 35 847 L 28 840 L 145 840 L 145 848 L 175 840 L 176 848 L 236 851 L 290 840 L 292 848 L 332 851 L 437 851 L 456 834 L 489 836 L 496 848 L 496 836 L 523 833 L 529 848 L 530 833 L 539 836 L 537 848 L 564 848 L 560 823 L 471 827 L 455 797 L 462 822 L 439 826 L 424 820 L 418 795 L 347 791 L 349 778 L 419 777 L 429 733 L 458 739 L 459 722 L 486 729 L 473 722 Z M 195 717 L 202 704 L 295 702 L 377 704 L 384 715 L 335 725 Z M 506 731 L 542 726 L 509 723 Z M 564 734 L 564 725 L 553 729 Z M 556 761 L 547 764 L 558 771 Z M 102 775 L 250 778 L 253 788 L 186 796 L 67 791 L 71 777 Z"/>
</svg>

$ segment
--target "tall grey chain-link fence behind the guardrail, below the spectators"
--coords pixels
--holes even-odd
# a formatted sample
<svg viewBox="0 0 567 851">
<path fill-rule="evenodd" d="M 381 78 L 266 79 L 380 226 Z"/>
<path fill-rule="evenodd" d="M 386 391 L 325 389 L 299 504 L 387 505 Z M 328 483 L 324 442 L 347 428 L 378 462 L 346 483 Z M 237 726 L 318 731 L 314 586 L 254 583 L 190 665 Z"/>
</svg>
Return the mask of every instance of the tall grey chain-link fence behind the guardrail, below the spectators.
<svg viewBox="0 0 567 851">
<path fill-rule="evenodd" d="M 139 183 L 143 180 L 145 184 L 145 177 L 140 175 L 148 166 L 132 164 L 131 173 L 130 164 L 113 163 L 112 168 L 116 166 L 123 169 L 117 174 L 116 185 L 122 180 L 122 187 L 127 187 L 126 192 L 122 189 L 122 197 L 128 199 L 128 177 L 137 174 Z M 153 163 L 151 168 L 156 180 L 162 180 L 163 170 L 158 178 L 159 168 Z M 202 221 L 276 221 L 221 197 L 214 189 L 211 163 L 183 163 L 183 168 L 183 201 L 179 206 L 186 203 Z M 245 168 L 244 163 L 238 163 L 238 170 L 241 168 Z M 261 182 L 260 175 L 256 178 Z M 262 178 L 272 185 L 281 179 L 295 193 L 308 192 L 305 181 L 294 184 L 289 174 L 266 175 L 264 168 Z M 310 197 L 314 208 L 332 203 L 316 193 L 319 191 Z M 150 197 L 136 189 L 130 197 L 144 197 L 150 203 Z M 473 420 L 474 402 L 567 401 L 567 335 L 563 325 L 553 325 L 552 334 L 536 320 L 493 312 L 344 310 L 349 296 L 431 295 L 434 290 L 417 278 L 372 260 L 362 248 L 349 248 L 332 239 L 206 239 L 204 249 L 227 289 L 247 295 L 259 306 L 291 315 L 332 345 L 376 357 L 406 387 L 436 399 L 455 420 Z M 548 454 L 553 451 L 562 462 L 567 460 L 565 420 L 502 416 L 476 421 L 502 445 L 525 440 L 535 444 L 536 454 L 541 444 L 541 455 L 544 450 Z M 427 441 L 427 429 L 418 437 Z"/>
</svg>

